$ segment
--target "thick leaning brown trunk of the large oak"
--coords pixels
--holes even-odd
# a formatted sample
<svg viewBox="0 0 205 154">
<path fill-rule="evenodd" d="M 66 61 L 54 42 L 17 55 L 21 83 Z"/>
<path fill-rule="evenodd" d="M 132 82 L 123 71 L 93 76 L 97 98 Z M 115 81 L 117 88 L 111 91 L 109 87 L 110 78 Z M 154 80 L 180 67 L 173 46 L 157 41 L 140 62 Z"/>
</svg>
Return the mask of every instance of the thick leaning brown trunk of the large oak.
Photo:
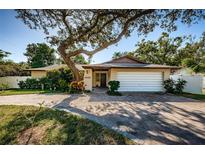
<svg viewBox="0 0 205 154">
<path fill-rule="evenodd" d="M 73 72 L 74 79 L 76 81 L 80 81 L 81 80 L 80 70 L 78 70 L 78 68 L 75 66 L 72 60 L 66 56 L 65 50 L 66 50 L 66 47 L 63 44 L 60 45 L 58 48 L 58 51 L 60 52 L 64 62 L 66 63 L 66 65 L 68 65 L 68 68 L 70 68 L 71 71 Z"/>
</svg>

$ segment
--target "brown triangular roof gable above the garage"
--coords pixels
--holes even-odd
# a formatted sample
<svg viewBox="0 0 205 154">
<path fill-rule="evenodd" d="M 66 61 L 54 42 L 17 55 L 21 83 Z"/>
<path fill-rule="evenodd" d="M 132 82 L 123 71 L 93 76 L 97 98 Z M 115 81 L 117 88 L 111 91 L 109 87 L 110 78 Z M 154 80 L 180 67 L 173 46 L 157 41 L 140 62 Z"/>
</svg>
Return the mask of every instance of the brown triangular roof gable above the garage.
<svg viewBox="0 0 205 154">
<path fill-rule="evenodd" d="M 131 56 L 123 56 L 120 58 L 113 59 L 111 61 L 105 62 L 103 64 L 109 64 L 109 63 L 130 63 L 130 64 L 146 64 L 145 62 L 141 62 Z"/>
</svg>

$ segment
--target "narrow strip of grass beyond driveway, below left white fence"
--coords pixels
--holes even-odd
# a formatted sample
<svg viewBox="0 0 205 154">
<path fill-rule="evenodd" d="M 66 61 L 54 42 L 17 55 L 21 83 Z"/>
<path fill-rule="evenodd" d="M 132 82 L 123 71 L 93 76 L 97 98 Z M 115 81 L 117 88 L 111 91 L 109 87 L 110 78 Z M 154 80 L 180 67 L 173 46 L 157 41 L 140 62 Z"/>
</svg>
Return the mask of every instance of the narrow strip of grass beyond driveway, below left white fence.
<svg viewBox="0 0 205 154">
<path fill-rule="evenodd" d="M 24 94 L 44 94 L 44 93 L 52 93 L 49 90 L 22 90 L 22 89 L 13 89 L 13 90 L 4 90 L 0 91 L 0 96 L 7 95 L 24 95 Z"/>
</svg>

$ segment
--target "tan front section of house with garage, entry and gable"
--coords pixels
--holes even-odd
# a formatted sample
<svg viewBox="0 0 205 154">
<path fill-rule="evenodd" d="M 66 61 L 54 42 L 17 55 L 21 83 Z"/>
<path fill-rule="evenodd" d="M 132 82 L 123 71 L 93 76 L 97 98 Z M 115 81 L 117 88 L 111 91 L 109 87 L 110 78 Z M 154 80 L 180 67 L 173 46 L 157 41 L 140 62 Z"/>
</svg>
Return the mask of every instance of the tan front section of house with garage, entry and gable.
<svg viewBox="0 0 205 154">
<path fill-rule="evenodd" d="M 120 81 L 119 91 L 164 91 L 163 81 L 170 78 L 175 66 L 147 64 L 123 56 L 101 64 L 83 65 L 86 90 L 107 87 L 111 80 Z"/>
</svg>

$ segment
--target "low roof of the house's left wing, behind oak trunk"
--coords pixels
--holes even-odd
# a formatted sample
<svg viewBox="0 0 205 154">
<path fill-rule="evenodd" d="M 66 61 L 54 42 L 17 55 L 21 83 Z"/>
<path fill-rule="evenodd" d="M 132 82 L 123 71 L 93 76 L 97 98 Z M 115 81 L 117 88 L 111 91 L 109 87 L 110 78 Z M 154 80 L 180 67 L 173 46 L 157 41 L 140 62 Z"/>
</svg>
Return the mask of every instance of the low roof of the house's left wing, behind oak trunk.
<svg viewBox="0 0 205 154">
<path fill-rule="evenodd" d="M 76 64 L 75 65 L 79 70 L 84 70 L 82 68 L 82 65 L 80 64 Z M 50 65 L 50 66 L 46 66 L 46 67 L 39 67 L 39 68 L 29 68 L 26 69 L 28 71 L 51 71 L 51 70 L 55 70 L 55 69 L 59 69 L 59 68 L 64 68 L 64 67 L 68 67 L 66 64 L 55 64 L 55 65 Z"/>
</svg>

